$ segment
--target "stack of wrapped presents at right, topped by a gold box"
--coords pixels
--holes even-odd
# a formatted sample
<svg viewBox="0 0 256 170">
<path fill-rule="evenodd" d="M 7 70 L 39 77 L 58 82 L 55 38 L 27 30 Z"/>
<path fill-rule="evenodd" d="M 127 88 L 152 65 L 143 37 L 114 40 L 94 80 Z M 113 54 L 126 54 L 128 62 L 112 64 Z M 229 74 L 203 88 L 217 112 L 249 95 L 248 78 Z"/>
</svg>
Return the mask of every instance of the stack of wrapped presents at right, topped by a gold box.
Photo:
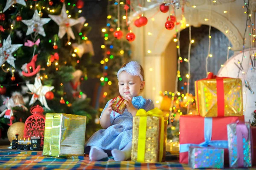
<svg viewBox="0 0 256 170">
<path fill-rule="evenodd" d="M 180 163 L 192 168 L 251 167 L 250 124 L 244 123 L 242 82 L 216 77 L 195 82 L 199 115 L 180 116 Z"/>
</svg>

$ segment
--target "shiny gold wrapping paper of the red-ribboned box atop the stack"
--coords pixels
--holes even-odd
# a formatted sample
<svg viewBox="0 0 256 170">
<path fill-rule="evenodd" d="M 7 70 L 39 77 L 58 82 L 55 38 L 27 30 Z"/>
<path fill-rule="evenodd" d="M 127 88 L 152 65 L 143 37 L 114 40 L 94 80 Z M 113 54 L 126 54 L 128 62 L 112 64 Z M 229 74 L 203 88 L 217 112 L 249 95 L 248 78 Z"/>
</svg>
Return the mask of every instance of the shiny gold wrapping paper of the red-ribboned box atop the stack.
<svg viewBox="0 0 256 170">
<path fill-rule="evenodd" d="M 239 78 L 221 78 L 224 90 L 224 116 L 243 115 L 242 81 Z M 217 80 L 195 81 L 196 107 L 200 116 L 219 117 Z"/>
</svg>

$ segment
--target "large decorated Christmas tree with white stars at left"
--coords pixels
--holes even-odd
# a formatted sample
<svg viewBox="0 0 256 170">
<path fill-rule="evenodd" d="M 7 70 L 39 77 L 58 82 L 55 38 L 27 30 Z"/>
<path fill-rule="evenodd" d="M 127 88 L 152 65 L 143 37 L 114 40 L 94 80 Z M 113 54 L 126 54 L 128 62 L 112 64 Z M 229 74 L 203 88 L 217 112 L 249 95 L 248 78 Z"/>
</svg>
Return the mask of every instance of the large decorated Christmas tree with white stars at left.
<svg viewBox="0 0 256 170">
<path fill-rule="evenodd" d="M 44 113 L 87 116 L 87 137 L 97 130 L 97 111 L 79 87 L 102 74 L 92 62 L 91 28 L 79 17 L 83 5 L 82 0 L 0 0 L 0 103 L 6 105 L 1 108 L 10 102 L 6 97 L 21 94 L 25 101 L 10 104 L 9 118 L 1 114 L 2 138 L 11 121 L 24 122 L 37 104 Z"/>
</svg>

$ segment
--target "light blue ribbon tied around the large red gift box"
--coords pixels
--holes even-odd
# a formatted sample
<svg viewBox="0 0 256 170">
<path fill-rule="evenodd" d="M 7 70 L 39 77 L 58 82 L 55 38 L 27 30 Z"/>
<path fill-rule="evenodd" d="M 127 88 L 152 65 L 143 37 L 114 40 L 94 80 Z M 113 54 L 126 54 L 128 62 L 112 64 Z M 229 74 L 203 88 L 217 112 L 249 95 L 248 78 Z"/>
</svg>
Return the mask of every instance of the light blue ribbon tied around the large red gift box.
<svg viewBox="0 0 256 170">
<path fill-rule="evenodd" d="M 201 144 L 180 144 L 180 153 L 188 152 L 190 146 L 228 148 L 227 141 L 211 141 L 212 118 L 204 118 L 204 142 Z"/>
</svg>

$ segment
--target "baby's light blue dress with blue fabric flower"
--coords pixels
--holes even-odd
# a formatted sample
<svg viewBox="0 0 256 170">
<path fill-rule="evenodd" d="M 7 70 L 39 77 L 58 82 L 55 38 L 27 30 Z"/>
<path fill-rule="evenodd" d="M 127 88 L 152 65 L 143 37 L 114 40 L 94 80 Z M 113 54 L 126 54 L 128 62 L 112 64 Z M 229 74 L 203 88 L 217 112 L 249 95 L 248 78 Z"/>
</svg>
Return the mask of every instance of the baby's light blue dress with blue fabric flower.
<svg viewBox="0 0 256 170">
<path fill-rule="evenodd" d="M 132 104 L 136 109 L 145 109 L 146 111 L 154 109 L 153 102 L 150 99 L 144 99 L 142 96 L 132 98 Z M 102 113 L 106 107 L 108 107 L 108 103 Z M 85 147 L 96 146 L 103 150 L 122 150 L 132 140 L 132 118 L 133 116 L 127 109 L 122 115 L 115 112 L 115 116 L 112 110 L 110 114 L 111 126 L 94 133 L 85 144 Z"/>
</svg>

